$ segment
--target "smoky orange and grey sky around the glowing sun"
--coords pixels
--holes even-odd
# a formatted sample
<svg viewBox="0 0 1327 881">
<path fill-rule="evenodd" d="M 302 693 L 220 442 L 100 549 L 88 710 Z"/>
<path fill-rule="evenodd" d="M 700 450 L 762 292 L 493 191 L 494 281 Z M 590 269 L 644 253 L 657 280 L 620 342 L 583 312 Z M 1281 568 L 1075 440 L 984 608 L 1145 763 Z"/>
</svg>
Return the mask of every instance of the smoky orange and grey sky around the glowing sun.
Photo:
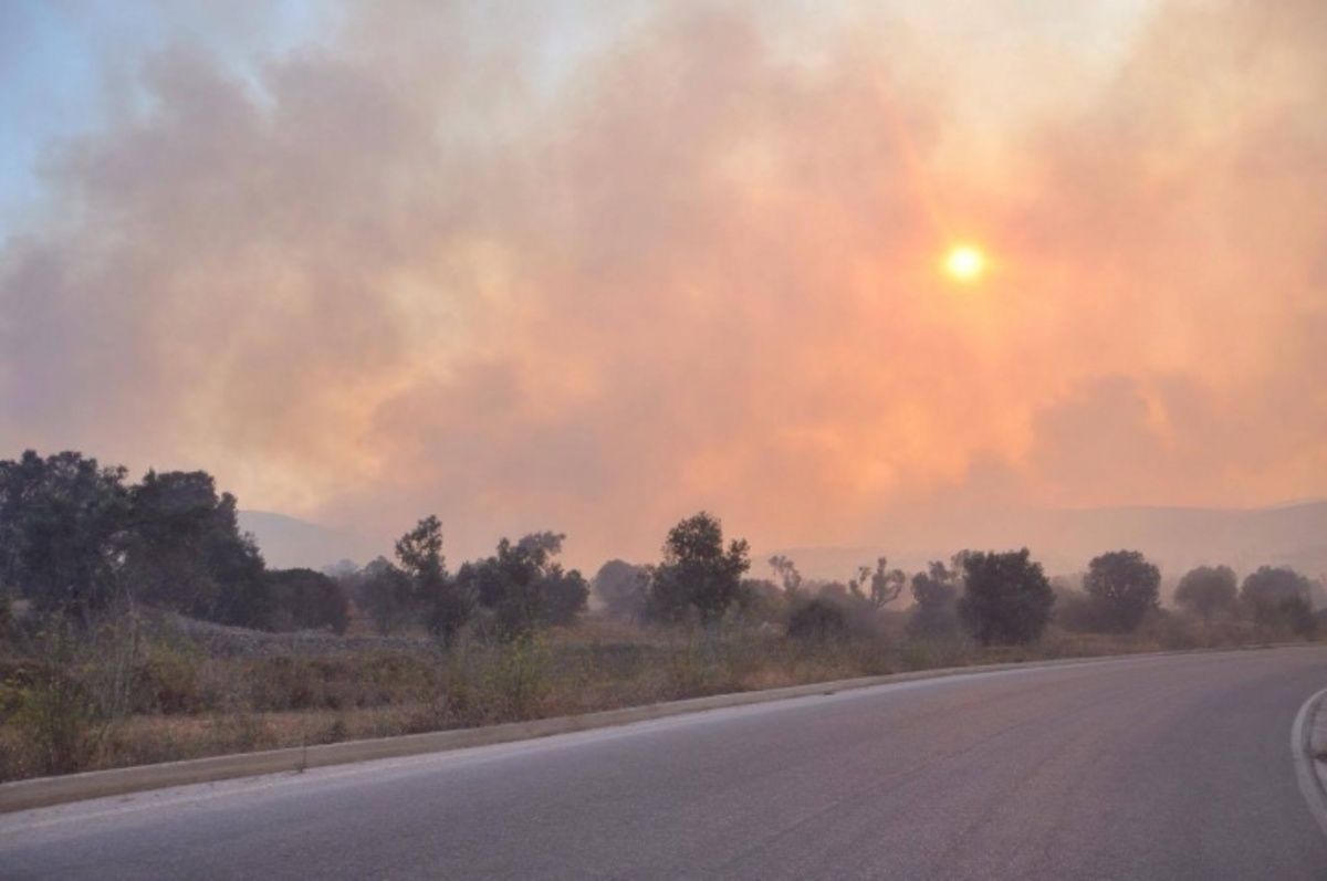
<svg viewBox="0 0 1327 881">
<path fill-rule="evenodd" d="M 0 0 L 0 456 L 587 567 L 699 509 L 1327 496 L 1323 45 L 1320 0 Z"/>
</svg>

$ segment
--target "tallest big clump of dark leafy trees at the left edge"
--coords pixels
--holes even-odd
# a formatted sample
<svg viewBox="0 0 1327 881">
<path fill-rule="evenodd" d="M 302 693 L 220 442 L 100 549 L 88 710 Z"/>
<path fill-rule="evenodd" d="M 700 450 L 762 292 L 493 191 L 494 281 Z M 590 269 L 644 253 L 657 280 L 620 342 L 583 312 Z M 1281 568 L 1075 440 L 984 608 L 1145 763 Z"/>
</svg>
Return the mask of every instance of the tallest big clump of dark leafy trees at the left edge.
<svg viewBox="0 0 1327 881">
<path fill-rule="evenodd" d="M 235 498 L 202 471 L 149 472 L 131 487 L 125 474 L 78 452 L 0 462 L 0 582 L 84 621 L 133 597 L 261 626 L 263 557 L 239 532 Z"/>
</svg>

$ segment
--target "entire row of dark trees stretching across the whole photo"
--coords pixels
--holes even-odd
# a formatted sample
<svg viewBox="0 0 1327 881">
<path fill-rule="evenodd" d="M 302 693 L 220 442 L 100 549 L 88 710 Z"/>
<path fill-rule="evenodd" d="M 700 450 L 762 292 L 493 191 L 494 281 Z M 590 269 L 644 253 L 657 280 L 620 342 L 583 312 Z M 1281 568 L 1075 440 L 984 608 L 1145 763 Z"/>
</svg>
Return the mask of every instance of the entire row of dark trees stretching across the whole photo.
<svg viewBox="0 0 1327 881">
<path fill-rule="evenodd" d="M 963 551 L 912 575 L 880 557 L 829 582 L 807 581 L 776 556 L 772 580 L 752 578 L 747 543 L 726 541 L 718 517 L 702 511 L 669 531 L 660 563 L 612 560 L 587 581 L 559 561 L 564 541 L 555 532 L 502 539 L 494 555 L 453 572 L 442 524 L 427 516 L 401 536 L 391 560 L 329 573 L 268 569 L 238 528 L 235 498 L 206 472 L 149 471 L 127 483 L 125 468 L 78 452 L 28 451 L 0 462 L 0 622 L 11 597 L 84 622 L 137 604 L 228 625 L 337 633 L 357 608 L 382 634 L 427 629 L 443 645 L 462 633 L 514 642 L 573 624 L 593 592 L 606 616 L 637 624 L 706 632 L 748 624 L 824 640 L 877 633 L 888 620 L 902 621 L 910 638 L 1014 645 L 1036 641 L 1052 621 L 1070 632 L 1132 633 L 1172 614 L 1160 606 L 1160 571 L 1136 551 L 1103 553 L 1079 580 L 1054 584 L 1027 549 Z M 1227 567 L 1200 567 L 1181 578 L 1174 602 L 1206 625 L 1312 637 L 1315 589 L 1289 568 L 1263 567 L 1241 582 Z M 905 592 L 912 608 L 892 612 Z"/>
</svg>

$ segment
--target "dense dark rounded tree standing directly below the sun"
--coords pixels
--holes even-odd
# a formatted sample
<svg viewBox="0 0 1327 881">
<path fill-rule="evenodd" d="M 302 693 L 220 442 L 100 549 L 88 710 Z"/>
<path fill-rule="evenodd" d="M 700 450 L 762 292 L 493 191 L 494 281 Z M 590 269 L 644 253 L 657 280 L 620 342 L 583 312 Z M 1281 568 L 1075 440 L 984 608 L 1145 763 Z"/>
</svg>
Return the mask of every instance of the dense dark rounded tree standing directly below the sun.
<svg viewBox="0 0 1327 881">
<path fill-rule="evenodd" d="M 1022 551 L 965 552 L 963 596 L 958 617 L 982 645 L 1015 645 L 1040 638 L 1051 618 L 1055 593 Z"/>
</svg>

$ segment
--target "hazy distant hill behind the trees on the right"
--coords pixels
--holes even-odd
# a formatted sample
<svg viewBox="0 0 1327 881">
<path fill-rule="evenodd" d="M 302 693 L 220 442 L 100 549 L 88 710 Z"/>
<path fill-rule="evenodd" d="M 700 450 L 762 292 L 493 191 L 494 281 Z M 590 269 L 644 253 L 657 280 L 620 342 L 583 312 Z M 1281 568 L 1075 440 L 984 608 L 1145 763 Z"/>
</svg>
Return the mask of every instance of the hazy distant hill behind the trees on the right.
<svg viewBox="0 0 1327 881">
<path fill-rule="evenodd" d="M 1048 511 L 1020 508 L 955 519 L 950 523 L 900 527 L 880 545 L 853 548 L 787 548 L 778 551 L 813 578 L 847 578 L 859 565 L 888 556 L 909 572 L 928 560 L 947 560 L 961 548 L 975 551 L 1027 547 L 1048 575 L 1072 575 L 1107 551 L 1141 551 L 1178 578 L 1196 565 L 1225 564 L 1241 576 L 1259 565 L 1289 565 L 1318 577 L 1327 573 L 1327 502 L 1273 508 L 1089 508 Z M 764 560 L 752 573 L 768 575 Z"/>
</svg>

